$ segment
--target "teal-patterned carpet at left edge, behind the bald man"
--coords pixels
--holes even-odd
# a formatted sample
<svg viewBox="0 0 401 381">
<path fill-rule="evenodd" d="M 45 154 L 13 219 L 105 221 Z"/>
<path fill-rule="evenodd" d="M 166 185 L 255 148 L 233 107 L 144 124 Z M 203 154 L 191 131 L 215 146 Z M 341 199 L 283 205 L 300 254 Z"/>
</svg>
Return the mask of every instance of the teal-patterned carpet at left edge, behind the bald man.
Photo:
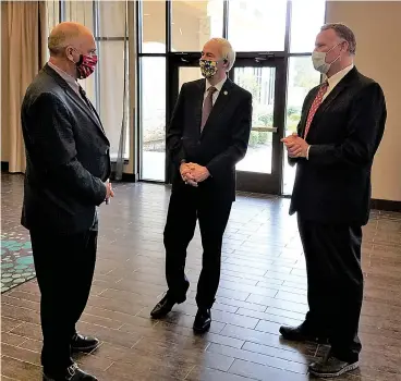
<svg viewBox="0 0 401 381">
<path fill-rule="evenodd" d="M 1 173 L 1 293 L 35 278 L 29 234 L 21 226 L 23 181 Z"/>
</svg>

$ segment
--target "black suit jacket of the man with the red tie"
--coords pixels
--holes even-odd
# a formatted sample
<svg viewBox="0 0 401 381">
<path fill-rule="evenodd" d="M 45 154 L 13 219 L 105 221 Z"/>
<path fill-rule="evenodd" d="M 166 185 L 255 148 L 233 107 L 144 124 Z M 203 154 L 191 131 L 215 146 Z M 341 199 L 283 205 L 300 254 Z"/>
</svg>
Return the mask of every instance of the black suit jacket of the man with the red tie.
<svg viewBox="0 0 401 381">
<path fill-rule="evenodd" d="M 299 136 L 318 86 L 306 96 Z M 317 109 L 306 140 L 308 160 L 297 162 L 290 213 L 323 223 L 368 221 L 370 170 L 387 118 L 381 87 L 352 69 Z"/>
</svg>

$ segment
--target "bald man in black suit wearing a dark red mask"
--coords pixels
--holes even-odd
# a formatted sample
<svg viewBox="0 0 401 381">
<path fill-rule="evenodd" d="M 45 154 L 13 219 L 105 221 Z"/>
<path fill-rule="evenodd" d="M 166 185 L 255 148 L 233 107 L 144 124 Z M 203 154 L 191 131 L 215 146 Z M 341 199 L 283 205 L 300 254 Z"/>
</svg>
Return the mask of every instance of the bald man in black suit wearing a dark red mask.
<svg viewBox="0 0 401 381">
<path fill-rule="evenodd" d="M 53 28 L 50 60 L 22 105 L 26 173 L 22 224 L 29 230 L 44 334 L 44 380 L 97 380 L 71 358 L 99 342 L 75 330 L 89 296 L 96 206 L 113 196 L 109 140 L 81 88 L 97 63 L 95 39 L 75 23 Z"/>
</svg>

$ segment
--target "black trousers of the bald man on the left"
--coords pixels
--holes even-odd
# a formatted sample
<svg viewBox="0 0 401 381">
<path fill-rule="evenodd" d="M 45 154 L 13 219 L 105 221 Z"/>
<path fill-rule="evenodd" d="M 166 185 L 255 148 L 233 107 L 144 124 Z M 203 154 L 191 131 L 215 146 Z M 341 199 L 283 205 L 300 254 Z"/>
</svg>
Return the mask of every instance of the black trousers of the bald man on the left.
<svg viewBox="0 0 401 381">
<path fill-rule="evenodd" d="M 70 343 L 89 297 L 97 231 L 57 235 L 31 231 L 44 335 L 41 364 L 57 374 L 73 364 Z"/>
</svg>

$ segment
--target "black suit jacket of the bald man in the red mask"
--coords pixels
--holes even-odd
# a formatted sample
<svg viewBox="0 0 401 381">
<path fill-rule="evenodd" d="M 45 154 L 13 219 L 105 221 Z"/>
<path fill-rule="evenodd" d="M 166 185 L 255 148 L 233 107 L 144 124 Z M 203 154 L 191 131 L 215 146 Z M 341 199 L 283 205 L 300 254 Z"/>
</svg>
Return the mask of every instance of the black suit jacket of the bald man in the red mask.
<svg viewBox="0 0 401 381">
<path fill-rule="evenodd" d="M 26 90 L 22 110 L 26 172 L 22 224 L 74 234 L 90 229 L 110 175 L 99 116 L 49 65 Z"/>
</svg>

